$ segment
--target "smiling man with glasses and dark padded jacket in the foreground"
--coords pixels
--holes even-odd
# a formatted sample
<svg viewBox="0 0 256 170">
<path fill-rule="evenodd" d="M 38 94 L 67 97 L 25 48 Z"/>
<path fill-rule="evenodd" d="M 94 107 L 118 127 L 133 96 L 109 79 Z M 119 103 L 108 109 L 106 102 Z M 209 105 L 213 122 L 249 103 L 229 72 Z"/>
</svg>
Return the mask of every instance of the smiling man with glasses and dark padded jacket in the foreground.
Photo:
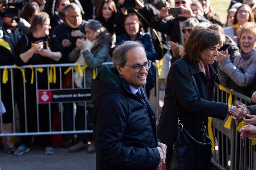
<svg viewBox="0 0 256 170">
<path fill-rule="evenodd" d="M 142 44 L 125 41 L 116 47 L 113 64 L 92 80 L 96 170 L 153 170 L 165 163 L 166 145 L 157 139 L 154 111 L 142 88 L 151 61 Z"/>
</svg>

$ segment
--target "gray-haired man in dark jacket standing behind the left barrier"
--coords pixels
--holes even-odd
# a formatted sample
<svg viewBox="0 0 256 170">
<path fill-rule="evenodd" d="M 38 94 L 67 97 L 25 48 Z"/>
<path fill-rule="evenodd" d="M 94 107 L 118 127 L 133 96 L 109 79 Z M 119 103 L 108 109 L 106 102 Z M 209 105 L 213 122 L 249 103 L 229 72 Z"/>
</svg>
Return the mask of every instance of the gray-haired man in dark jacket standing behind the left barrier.
<svg viewBox="0 0 256 170">
<path fill-rule="evenodd" d="M 69 63 L 68 55 L 76 48 L 77 38 L 85 37 L 85 25 L 88 21 L 82 20 L 81 9 L 75 3 L 70 3 L 64 8 L 65 21 L 56 26 L 53 30 L 53 36 L 56 36 L 63 48 L 62 58 L 60 63 Z M 65 86 L 69 83 L 69 75 L 64 76 L 62 68 L 62 88 L 69 88 Z M 67 81 L 65 81 L 67 80 Z M 71 80 L 70 80 L 71 81 Z M 63 130 L 70 131 L 73 129 L 73 103 L 63 103 Z M 74 135 L 63 135 L 62 147 L 70 147 L 73 144 Z"/>
</svg>

